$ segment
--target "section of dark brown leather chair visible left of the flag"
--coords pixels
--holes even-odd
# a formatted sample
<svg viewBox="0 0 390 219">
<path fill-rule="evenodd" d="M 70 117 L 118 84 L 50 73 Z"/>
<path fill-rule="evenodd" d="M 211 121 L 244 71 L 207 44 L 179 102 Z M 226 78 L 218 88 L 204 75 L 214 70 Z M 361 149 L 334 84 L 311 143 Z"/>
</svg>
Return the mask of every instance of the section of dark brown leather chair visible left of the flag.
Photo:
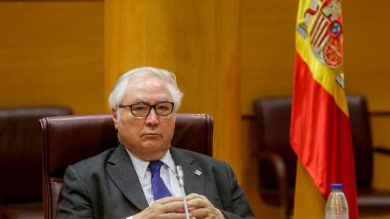
<svg viewBox="0 0 390 219">
<path fill-rule="evenodd" d="M 290 147 L 291 98 L 255 101 L 259 191 L 264 202 L 293 214 L 297 156 Z"/>
</svg>

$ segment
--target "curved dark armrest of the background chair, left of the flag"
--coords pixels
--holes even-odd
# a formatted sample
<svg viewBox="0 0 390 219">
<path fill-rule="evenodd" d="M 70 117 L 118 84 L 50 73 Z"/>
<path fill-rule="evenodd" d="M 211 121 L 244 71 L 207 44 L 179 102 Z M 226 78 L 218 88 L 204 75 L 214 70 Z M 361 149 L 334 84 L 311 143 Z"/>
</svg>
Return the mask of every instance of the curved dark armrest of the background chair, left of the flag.
<svg viewBox="0 0 390 219">
<path fill-rule="evenodd" d="M 279 200 L 282 206 L 288 208 L 288 189 L 287 189 L 287 173 L 286 166 L 281 156 L 274 152 L 254 152 L 253 156 L 258 159 L 259 162 L 265 161 L 270 163 L 276 172 L 277 187 Z"/>
</svg>

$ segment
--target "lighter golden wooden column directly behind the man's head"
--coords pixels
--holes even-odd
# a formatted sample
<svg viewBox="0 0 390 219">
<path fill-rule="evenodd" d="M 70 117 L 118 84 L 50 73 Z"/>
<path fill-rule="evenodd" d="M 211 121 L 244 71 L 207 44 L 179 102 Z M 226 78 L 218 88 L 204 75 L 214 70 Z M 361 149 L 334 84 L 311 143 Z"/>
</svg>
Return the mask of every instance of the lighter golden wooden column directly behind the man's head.
<svg viewBox="0 0 390 219">
<path fill-rule="evenodd" d="M 214 117 L 214 157 L 240 179 L 238 1 L 107 0 L 105 10 L 106 97 L 131 68 L 174 72 L 184 91 L 179 112 Z"/>
</svg>

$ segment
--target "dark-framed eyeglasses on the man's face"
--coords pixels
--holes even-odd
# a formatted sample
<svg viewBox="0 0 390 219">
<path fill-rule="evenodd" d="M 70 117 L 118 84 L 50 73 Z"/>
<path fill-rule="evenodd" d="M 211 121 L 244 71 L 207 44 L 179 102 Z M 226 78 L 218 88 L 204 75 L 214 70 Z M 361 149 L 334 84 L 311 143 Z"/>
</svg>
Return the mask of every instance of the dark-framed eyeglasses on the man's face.
<svg viewBox="0 0 390 219">
<path fill-rule="evenodd" d="M 149 105 L 145 103 L 136 103 L 132 105 L 119 105 L 122 107 L 129 107 L 133 116 L 135 117 L 146 117 L 150 114 L 151 108 L 154 108 L 154 112 L 156 112 L 159 116 L 168 116 L 173 112 L 173 102 L 161 102 L 154 105 Z"/>
</svg>

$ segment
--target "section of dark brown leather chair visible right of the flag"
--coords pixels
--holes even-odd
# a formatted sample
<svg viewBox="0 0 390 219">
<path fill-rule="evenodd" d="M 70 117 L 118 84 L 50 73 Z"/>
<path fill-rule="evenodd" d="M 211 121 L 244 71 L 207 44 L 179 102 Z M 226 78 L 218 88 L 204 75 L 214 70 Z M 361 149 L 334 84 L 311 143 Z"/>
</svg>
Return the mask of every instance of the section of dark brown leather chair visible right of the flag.
<svg viewBox="0 0 390 219">
<path fill-rule="evenodd" d="M 359 215 L 390 214 L 390 191 L 372 187 L 373 153 L 390 156 L 390 150 L 378 146 L 374 148 L 372 145 L 371 124 L 365 98 L 349 95 L 347 101 L 352 131 Z"/>
</svg>

